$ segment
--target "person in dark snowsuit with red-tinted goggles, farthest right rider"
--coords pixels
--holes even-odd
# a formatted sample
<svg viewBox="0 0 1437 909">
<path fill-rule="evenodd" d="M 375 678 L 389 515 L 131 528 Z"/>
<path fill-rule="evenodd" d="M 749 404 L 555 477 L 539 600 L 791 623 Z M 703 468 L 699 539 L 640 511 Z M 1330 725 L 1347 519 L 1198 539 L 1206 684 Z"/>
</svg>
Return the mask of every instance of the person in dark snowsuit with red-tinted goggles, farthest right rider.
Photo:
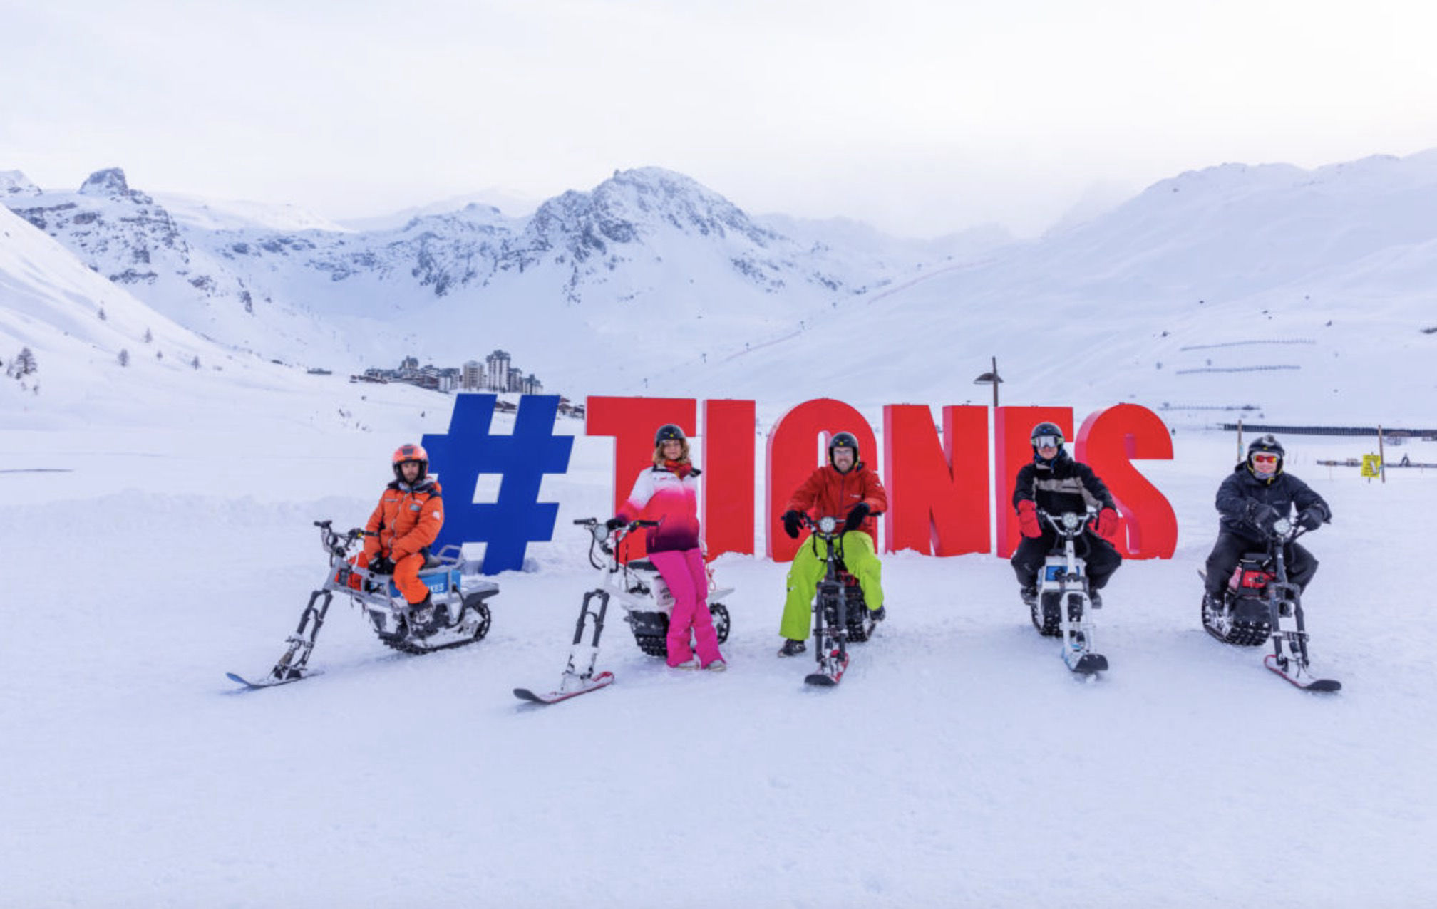
<svg viewBox="0 0 1437 909">
<path fill-rule="evenodd" d="M 1247 458 L 1233 468 L 1217 487 L 1220 533 L 1207 557 L 1207 595 L 1221 600 L 1223 586 L 1243 553 L 1267 549 L 1266 534 L 1277 518 L 1290 518 L 1298 510 L 1298 523 L 1309 531 L 1332 521 L 1332 508 L 1312 488 L 1283 471 L 1286 451 L 1273 435 L 1253 439 Z M 1288 579 L 1306 590 L 1318 570 L 1318 560 L 1302 546 L 1289 543 L 1286 549 Z"/>
</svg>

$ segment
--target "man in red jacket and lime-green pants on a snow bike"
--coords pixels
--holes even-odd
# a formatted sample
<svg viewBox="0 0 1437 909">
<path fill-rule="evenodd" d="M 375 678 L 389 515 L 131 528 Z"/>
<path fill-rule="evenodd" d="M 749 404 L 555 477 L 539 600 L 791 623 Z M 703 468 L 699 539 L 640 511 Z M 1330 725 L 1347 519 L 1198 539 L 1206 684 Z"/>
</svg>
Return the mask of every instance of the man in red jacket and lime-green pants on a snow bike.
<svg viewBox="0 0 1437 909">
<path fill-rule="evenodd" d="M 789 498 L 783 513 L 783 531 L 795 540 L 802 513 L 815 520 L 823 516 L 844 518 L 845 533 L 839 539 L 844 566 L 858 579 L 864 602 L 875 622 L 885 615 L 884 589 L 879 583 L 884 566 L 875 546 L 875 518 L 887 510 L 888 493 L 878 474 L 858 460 L 858 439 L 852 432 L 838 432 L 828 442 L 828 465 L 809 474 Z M 803 642 L 809 636 L 809 612 L 825 567 L 818 540 L 810 537 L 806 546 L 799 547 L 789 566 L 789 596 L 783 602 L 783 622 L 779 625 L 785 640 L 779 656 L 795 656 L 806 649 Z"/>
</svg>

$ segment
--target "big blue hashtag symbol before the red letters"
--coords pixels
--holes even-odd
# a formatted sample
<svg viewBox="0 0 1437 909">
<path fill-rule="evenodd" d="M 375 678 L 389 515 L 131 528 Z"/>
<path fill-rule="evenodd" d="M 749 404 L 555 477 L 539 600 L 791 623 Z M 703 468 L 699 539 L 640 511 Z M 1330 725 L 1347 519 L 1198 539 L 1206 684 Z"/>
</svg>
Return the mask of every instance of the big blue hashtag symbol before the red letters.
<svg viewBox="0 0 1437 909">
<path fill-rule="evenodd" d="M 484 574 L 520 570 L 530 541 L 552 540 L 558 503 L 539 501 L 545 474 L 569 470 L 573 437 L 555 435 L 558 395 L 519 399 L 513 435 L 489 431 L 497 395 L 457 395 L 447 435 L 425 435 L 430 467 L 444 487 L 444 528 L 434 549 L 487 543 Z M 474 503 L 480 474 L 497 474 L 499 498 Z"/>
</svg>

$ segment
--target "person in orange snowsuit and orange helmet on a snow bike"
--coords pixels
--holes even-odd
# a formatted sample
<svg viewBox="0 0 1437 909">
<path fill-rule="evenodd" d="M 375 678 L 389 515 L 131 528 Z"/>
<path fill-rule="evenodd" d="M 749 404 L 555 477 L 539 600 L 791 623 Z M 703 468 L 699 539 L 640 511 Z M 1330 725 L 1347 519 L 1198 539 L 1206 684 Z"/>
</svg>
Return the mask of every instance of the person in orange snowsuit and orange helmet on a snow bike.
<svg viewBox="0 0 1437 909">
<path fill-rule="evenodd" d="M 375 505 L 355 564 L 379 574 L 394 573 L 394 586 L 411 606 L 428 606 L 430 589 L 420 569 L 444 526 L 440 484 L 428 478 L 430 455 L 420 445 L 399 445 L 394 452 L 394 483 Z"/>
</svg>

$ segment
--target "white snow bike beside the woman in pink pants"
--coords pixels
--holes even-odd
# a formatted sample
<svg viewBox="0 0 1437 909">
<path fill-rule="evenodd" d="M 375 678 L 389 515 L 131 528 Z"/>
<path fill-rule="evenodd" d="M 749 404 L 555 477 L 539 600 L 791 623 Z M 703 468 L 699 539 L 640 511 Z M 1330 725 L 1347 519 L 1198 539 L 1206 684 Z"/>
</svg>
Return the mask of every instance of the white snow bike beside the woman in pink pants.
<svg viewBox="0 0 1437 909">
<path fill-rule="evenodd" d="M 579 606 L 579 622 L 573 629 L 573 646 L 569 649 L 569 662 L 559 678 L 559 688 L 550 692 L 535 692 L 529 688 L 516 688 L 514 696 L 535 704 L 558 704 L 591 691 L 598 691 L 614 682 L 612 672 L 593 673 L 593 665 L 599 658 L 599 636 L 604 633 L 604 619 L 609 610 L 609 599 L 616 597 L 624 607 L 624 620 L 634 630 L 634 640 L 639 649 L 650 656 L 668 655 L 668 619 L 674 612 L 674 595 L 664 583 L 662 574 L 647 559 L 619 560 L 619 544 L 624 539 L 641 527 L 658 527 L 658 521 L 629 521 L 616 527 L 612 534 L 604 521 L 592 517 L 575 521 L 589 531 L 589 564 L 604 572 L 604 583 L 583 595 Z M 612 536 L 612 540 L 611 540 Z M 598 550 L 598 551 L 596 551 Z M 604 554 L 604 559 L 599 557 Z M 716 602 L 720 596 L 729 596 L 733 589 L 717 589 L 713 572 L 708 573 L 708 615 L 714 620 L 714 632 L 718 643 L 729 640 L 729 607 Z M 595 600 L 598 609 L 593 607 Z M 583 642 L 585 626 L 592 619 L 593 632 L 589 642 Z"/>
</svg>

